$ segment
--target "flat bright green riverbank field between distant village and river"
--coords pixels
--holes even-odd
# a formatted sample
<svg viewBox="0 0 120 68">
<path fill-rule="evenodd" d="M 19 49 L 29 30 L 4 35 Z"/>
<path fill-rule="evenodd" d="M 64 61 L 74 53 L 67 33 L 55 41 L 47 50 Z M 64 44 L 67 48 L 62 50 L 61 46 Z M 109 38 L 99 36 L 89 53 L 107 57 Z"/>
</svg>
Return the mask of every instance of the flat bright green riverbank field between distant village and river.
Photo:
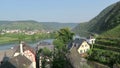
<svg viewBox="0 0 120 68">
<path fill-rule="evenodd" d="M 34 34 L 34 35 L 25 35 L 23 33 L 19 34 L 4 34 L 0 35 L 0 44 L 12 43 L 12 42 L 20 42 L 20 41 L 30 41 L 35 42 L 42 39 L 49 39 L 52 38 L 52 34 Z"/>
</svg>

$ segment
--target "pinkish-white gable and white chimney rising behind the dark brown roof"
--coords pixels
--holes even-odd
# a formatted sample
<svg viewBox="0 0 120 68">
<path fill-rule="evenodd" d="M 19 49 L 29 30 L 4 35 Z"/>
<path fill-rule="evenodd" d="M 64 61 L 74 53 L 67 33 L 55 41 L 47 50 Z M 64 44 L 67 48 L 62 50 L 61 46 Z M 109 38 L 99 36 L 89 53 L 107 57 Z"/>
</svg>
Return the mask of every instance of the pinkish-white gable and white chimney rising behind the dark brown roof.
<svg viewBox="0 0 120 68">
<path fill-rule="evenodd" d="M 30 46 L 25 44 L 24 42 L 22 42 L 16 48 L 16 51 L 13 54 L 13 57 L 17 57 L 19 55 L 24 56 L 24 57 L 26 57 L 27 60 L 31 61 L 31 64 L 29 65 L 28 68 L 36 68 L 36 55 L 35 55 L 35 51 Z"/>
</svg>

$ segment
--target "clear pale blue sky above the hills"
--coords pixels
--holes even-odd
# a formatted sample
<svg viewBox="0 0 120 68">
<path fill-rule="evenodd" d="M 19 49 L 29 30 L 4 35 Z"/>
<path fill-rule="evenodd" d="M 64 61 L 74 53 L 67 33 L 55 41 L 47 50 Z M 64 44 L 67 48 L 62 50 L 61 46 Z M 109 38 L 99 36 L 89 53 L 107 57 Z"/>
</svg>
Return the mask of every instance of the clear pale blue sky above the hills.
<svg viewBox="0 0 120 68">
<path fill-rule="evenodd" d="M 0 20 L 80 23 L 120 0 L 0 0 Z"/>
</svg>

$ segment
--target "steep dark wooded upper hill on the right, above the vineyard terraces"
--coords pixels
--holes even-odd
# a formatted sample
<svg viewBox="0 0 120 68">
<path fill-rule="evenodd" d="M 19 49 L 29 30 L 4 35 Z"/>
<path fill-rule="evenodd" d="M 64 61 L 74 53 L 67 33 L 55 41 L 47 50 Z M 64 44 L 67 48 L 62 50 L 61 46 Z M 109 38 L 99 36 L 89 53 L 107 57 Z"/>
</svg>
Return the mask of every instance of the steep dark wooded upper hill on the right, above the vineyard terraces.
<svg viewBox="0 0 120 68">
<path fill-rule="evenodd" d="M 81 36 L 94 33 L 108 33 L 111 34 L 112 30 L 120 30 L 120 2 L 112 4 L 105 8 L 99 15 L 86 23 L 80 23 L 73 29 L 73 31 Z M 79 31 L 78 31 L 79 30 Z M 116 35 L 116 34 L 114 34 Z"/>
</svg>

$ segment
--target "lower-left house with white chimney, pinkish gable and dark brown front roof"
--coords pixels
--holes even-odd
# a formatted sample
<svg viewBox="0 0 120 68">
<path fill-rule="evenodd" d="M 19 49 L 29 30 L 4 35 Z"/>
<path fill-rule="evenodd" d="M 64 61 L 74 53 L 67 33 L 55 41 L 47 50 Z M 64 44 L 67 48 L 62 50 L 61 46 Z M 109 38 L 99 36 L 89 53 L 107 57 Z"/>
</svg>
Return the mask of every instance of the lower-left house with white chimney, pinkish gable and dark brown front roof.
<svg viewBox="0 0 120 68">
<path fill-rule="evenodd" d="M 33 48 L 21 42 L 12 50 L 13 55 L 8 57 L 5 54 L 0 68 L 36 68 L 36 54 Z"/>
</svg>

